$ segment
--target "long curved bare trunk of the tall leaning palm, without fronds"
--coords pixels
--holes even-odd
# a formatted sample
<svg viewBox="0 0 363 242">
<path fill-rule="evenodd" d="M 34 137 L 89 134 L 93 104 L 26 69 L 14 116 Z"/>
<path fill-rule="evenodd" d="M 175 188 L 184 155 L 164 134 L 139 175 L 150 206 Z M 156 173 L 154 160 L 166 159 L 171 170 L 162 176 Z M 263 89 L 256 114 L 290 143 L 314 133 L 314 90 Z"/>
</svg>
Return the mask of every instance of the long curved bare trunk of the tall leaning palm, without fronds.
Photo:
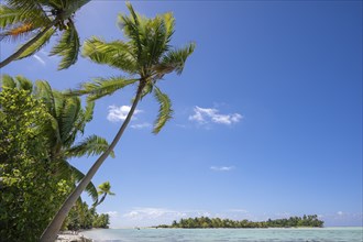
<svg viewBox="0 0 363 242">
<path fill-rule="evenodd" d="M 92 167 L 88 170 L 88 173 L 81 179 L 81 182 L 78 184 L 76 189 L 65 200 L 62 208 L 57 211 L 54 219 L 51 221 L 48 227 L 43 232 L 43 234 L 40 239 L 41 242 L 54 242 L 55 241 L 55 239 L 57 237 L 57 233 L 59 232 L 59 229 L 62 227 L 62 223 L 65 220 L 65 218 L 67 217 L 69 210 L 72 209 L 72 207 L 74 206 L 76 200 L 79 198 L 80 194 L 85 190 L 87 185 L 90 183 L 90 180 L 92 179 L 92 177 L 97 173 L 98 168 L 102 165 L 105 160 L 109 156 L 109 154 L 111 153 L 111 151 L 114 148 L 114 146 L 119 142 L 120 138 L 122 136 L 124 130 L 127 129 L 127 127 L 128 127 L 128 124 L 131 120 L 132 114 L 134 113 L 134 111 L 136 109 L 136 106 L 140 101 L 141 94 L 142 94 L 142 90 L 143 90 L 144 86 L 145 86 L 144 81 L 142 81 L 139 85 L 136 97 L 135 97 L 135 99 L 132 103 L 130 112 L 128 113 L 127 119 L 123 121 L 119 132 L 114 136 L 114 139 L 113 139 L 112 143 L 110 144 L 109 148 L 107 151 L 105 151 L 103 154 L 95 162 Z"/>
</svg>

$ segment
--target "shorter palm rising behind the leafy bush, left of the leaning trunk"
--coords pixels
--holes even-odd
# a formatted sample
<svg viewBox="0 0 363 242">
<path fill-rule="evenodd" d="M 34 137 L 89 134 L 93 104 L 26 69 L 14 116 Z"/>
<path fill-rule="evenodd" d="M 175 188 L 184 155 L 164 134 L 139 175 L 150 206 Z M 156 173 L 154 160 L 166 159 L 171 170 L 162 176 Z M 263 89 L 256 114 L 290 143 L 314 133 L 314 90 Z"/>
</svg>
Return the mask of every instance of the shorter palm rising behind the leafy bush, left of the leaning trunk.
<svg viewBox="0 0 363 242">
<path fill-rule="evenodd" d="M 76 138 L 84 133 L 87 122 L 92 119 L 94 103 L 88 102 L 81 108 L 79 98 L 65 97 L 61 92 L 52 90 L 50 84 L 38 80 L 33 82 L 25 77 L 11 77 L 3 75 L 2 88 L 19 88 L 28 90 L 37 99 L 42 99 L 50 114 L 48 121 L 42 127 L 43 135 L 47 136 L 50 161 L 54 164 L 54 175 L 66 180 L 78 183 L 85 175 L 68 163 L 73 157 L 101 154 L 109 146 L 107 141 L 100 136 L 91 135 L 75 143 Z M 111 153 L 113 156 L 113 152 Z M 92 183 L 86 187 L 86 191 L 98 204 L 98 191 Z"/>
</svg>

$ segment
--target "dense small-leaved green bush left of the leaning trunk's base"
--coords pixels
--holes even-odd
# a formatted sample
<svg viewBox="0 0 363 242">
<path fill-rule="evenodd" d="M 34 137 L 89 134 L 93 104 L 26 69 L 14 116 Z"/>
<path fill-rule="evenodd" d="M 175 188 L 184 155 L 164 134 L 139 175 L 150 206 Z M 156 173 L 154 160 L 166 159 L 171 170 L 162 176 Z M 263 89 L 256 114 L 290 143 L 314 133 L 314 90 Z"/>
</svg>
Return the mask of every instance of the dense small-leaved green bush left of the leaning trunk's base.
<svg viewBox="0 0 363 242">
<path fill-rule="evenodd" d="M 0 238 L 37 241 L 70 189 L 53 175 L 41 128 L 45 107 L 26 90 L 0 92 Z"/>
</svg>

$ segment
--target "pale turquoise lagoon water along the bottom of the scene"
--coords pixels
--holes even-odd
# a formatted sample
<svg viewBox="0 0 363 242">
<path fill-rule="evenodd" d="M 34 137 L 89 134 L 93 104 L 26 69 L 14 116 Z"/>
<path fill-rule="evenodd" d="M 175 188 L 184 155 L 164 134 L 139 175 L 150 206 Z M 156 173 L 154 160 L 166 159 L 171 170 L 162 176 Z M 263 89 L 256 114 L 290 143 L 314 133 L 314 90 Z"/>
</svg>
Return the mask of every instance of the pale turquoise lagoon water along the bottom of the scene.
<svg viewBox="0 0 363 242">
<path fill-rule="evenodd" d="M 84 231 L 95 242 L 363 242 L 363 228 L 108 229 Z"/>
</svg>

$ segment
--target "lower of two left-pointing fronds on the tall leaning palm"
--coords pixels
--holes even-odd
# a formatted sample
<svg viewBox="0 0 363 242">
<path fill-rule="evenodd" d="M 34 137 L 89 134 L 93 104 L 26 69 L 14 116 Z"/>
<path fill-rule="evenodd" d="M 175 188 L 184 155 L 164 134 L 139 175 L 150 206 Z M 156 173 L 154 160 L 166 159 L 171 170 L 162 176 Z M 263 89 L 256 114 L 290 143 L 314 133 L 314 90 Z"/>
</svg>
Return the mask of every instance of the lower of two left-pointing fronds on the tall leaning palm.
<svg viewBox="0 0 363 242">
<path fill-rule="evenodd" d="M 68 95 L 88 95 L 87 101 L 95 101 L 136 81 L 139 79 L 125 79 L 123 77 L 98 78 L 92 82 L 82 84 L 79 90 L 70 90 Z"/>
</svg>

